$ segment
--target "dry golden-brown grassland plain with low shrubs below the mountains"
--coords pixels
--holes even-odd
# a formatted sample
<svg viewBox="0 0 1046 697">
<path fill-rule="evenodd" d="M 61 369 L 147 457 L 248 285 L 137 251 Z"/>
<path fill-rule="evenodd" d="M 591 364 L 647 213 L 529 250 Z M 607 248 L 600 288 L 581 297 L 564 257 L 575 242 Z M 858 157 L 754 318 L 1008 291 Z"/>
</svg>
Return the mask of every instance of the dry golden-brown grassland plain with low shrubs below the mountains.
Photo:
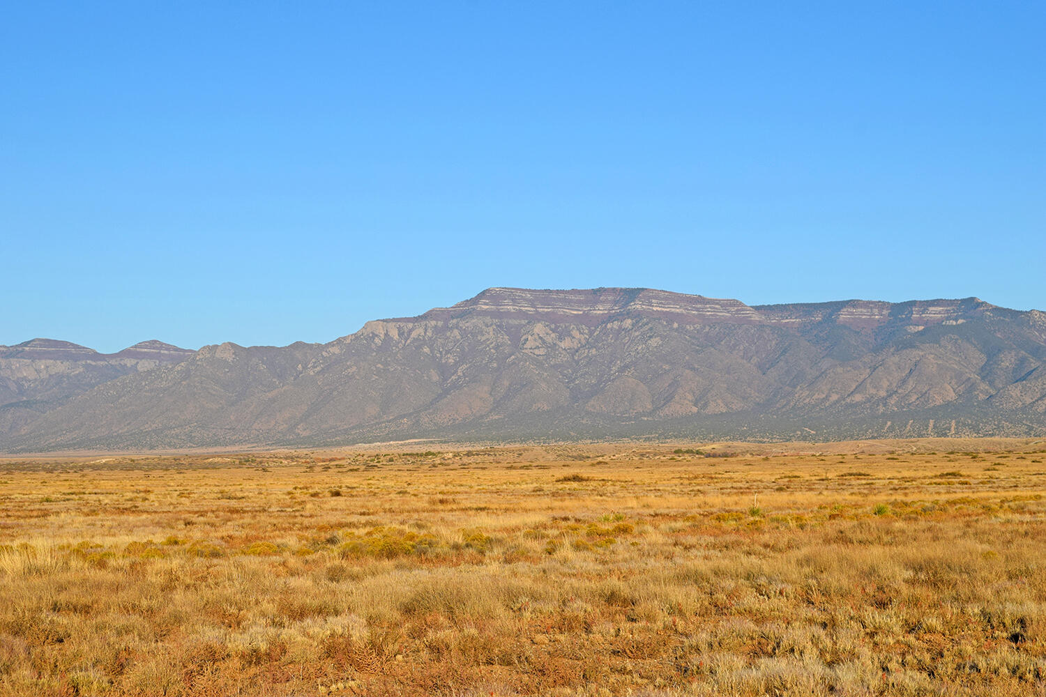
<svg viewBox="0 0 1046 697">
<path fill-rule="evenodd" d="M 0 462 L 0 695 L 1046 694 L 1046 443 L 412 447 Z"/>
</svg>

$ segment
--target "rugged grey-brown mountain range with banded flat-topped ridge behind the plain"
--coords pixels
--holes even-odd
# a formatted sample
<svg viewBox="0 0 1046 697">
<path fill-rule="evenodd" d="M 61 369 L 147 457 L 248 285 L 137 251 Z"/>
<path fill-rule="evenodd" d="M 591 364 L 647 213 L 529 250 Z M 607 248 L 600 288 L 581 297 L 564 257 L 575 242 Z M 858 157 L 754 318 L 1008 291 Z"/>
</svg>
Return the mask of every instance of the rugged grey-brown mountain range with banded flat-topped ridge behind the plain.
<svg viewBox="0 0 1046 697">
<path fill-rule="evenodd" d="M 1046 434 L 1046 312 L 488 288 L 327 344 L 0 347 L 0 450 Z"/>
</svg>

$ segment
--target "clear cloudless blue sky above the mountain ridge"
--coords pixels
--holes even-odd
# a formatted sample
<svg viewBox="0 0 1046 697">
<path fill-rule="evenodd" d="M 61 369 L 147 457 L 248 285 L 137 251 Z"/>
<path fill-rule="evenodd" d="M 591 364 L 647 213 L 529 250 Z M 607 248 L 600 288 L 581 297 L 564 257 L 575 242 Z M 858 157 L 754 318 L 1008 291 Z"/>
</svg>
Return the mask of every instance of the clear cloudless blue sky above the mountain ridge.
<svg viewBox="0 0 1046 697">
<path fill-rule="evenodd" d="M 0 344 L 492 285 L 1046 308 L 1046 3 L 7 2 Z"/>
</svg>

